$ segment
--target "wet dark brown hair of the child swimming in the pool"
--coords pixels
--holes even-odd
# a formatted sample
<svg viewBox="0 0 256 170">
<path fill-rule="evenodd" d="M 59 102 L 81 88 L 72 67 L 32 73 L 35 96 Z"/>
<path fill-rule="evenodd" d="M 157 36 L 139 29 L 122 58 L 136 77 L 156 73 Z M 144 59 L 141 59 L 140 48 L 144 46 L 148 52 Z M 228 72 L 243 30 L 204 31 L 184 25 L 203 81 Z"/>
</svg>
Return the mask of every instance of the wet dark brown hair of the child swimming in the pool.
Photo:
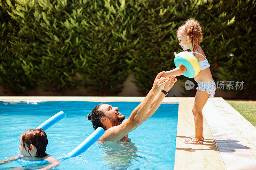
<svg viewBox="0 0 256 170">
<path fill-rule="evenodd" d="M 36 147 L 36 157 L 42 158 L 44 156 L 47 156 L 46 153 L 46 146 L 48 144 L 48 139 L 46 136 L 46 133 L 43 129 L 30 129 L 27 131 L 24 131 L 20 136 L 23 146 L 25 150 L 27 151 L 26 147 L 28 147 L 28 153 L 29 153 L 29 146 L 30 144 L 34 145 Z M 31 152 L 29 153 L 31 155 Z"/>
</svg>

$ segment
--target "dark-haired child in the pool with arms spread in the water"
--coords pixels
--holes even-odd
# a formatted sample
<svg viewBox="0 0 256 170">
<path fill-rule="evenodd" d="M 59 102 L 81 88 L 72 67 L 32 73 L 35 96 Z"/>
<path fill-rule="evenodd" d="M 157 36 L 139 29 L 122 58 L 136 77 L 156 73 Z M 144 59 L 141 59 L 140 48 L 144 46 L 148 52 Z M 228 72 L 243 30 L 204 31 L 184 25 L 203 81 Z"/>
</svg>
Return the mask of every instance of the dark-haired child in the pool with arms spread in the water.
<svg viewBox="0 0 256 170">
<path fill-rule="evenodd" d="M 20 136 L 20 152 L 22 155 L 13 156 L 12 158 L 0 161 L 0 165 L 16 159 L 28 159 L 31 161 L 47 160 L 51 163 L 43 169 L 49 169 L 60 165 L 60 162 L 46 153 L 48 139 L 43 129 L 30 129 L 24 131 Z"/>
</svg>

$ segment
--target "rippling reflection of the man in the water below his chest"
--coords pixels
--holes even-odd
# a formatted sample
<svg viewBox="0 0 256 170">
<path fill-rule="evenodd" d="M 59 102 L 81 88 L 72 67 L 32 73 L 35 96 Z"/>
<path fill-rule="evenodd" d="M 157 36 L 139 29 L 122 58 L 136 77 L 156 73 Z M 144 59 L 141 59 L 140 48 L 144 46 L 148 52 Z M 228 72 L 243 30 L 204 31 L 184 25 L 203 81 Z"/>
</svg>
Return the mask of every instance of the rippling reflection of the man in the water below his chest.
<svg viewBox="0 0 256 170">
<path fill-rule="evenodd" d="M 109 169 L 128 169 L 133 166 L 132 160 L 141 162 L 145 161 L 145 157 L 138 155 L 137 147 L 132 143 L 130 138 L 126 138 L 123 141 L 109 142 L 98 140 L 100 148 L 104 152 L 103 159 L 108 162 Z"/>
</svg>

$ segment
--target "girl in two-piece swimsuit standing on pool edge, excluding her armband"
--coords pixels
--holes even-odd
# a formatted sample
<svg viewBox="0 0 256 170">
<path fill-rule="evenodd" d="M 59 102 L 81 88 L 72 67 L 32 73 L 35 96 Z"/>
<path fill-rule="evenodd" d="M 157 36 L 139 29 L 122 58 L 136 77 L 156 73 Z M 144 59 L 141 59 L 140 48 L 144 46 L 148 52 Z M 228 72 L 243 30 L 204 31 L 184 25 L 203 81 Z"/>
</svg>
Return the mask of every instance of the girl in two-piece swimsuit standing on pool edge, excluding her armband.
<svg viewBox="0 0 256 170">
<path fill-rule="evenodd" d="M 188 19 L 185 21 L 184 25 L 180 26 L 177 31 L 177 37 L 180 42 L 181 48 L 185 51 L 190 49 L 191 54 L 193 54 L 199 61 L 200 72 L 194 77 L 195 81 L 198 83 L 197 92 L 193 106 L 193 115 L 195 120 L 195 132 L 196 135 L 185 139 L 186 144 L 203 144 L 203 115 L 202 110 L 208 98 L 214 97 L 215 94 L 215 82 L 212 79 L 212 74 L 210 71 L 210 64 L 206 59 L 206 56 L 199 46 L 200 42 L 203 40 L 202 27 L 195 19 Z M 176 55 L 176 53 L 174 53 Z M 166 71 L 162 76 L 179 76 L 187 71 L 186 67 L 181 65 L 173 70 Z"/>
</svg>

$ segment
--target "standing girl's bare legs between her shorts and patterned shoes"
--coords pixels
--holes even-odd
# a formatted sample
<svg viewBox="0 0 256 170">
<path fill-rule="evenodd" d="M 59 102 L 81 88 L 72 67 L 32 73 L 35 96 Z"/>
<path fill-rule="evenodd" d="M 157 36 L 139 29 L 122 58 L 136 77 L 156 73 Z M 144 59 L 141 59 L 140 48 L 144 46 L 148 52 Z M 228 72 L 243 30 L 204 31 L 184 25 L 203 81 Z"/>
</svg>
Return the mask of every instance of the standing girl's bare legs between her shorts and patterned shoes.
<svg viewBox="0 0 256 170">
<path fill-rule="evenodd" d="M 201 140 L 203 137 L 203 114 L 202 110 L 204 108 L 205 103 L 207 102 L 209 94 L 202 90 L 197 90 L 195 102 L 193 106 L 193 115 L 195 120 L 195 132 L 196 132 L 196 139 Z"/>
</svg>

